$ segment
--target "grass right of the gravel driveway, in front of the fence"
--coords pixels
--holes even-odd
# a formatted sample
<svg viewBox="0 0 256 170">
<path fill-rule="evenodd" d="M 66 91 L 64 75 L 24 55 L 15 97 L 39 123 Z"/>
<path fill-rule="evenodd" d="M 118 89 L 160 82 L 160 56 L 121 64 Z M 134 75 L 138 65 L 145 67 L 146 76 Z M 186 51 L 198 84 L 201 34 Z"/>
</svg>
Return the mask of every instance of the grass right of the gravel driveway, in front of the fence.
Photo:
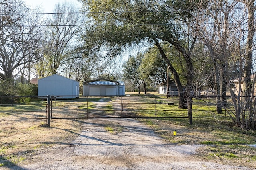
<svg viewBox="0 0 256 170">
<path fill-rule="evenodd" d="M 193 120 L 194 124 L 189 125 L 186 123 L 188 119 L 182 122 L 180 119 L 140 119 L 166 143 L 202 145 L 197 150 L 197 156 L 202 160 L 256 169 L 256 148 L 246 145 L 256 143 L 255 131 L 214 123 L 213 120 Z M 173 131 L 177 132 L 175 136 Z"/>
</svg>

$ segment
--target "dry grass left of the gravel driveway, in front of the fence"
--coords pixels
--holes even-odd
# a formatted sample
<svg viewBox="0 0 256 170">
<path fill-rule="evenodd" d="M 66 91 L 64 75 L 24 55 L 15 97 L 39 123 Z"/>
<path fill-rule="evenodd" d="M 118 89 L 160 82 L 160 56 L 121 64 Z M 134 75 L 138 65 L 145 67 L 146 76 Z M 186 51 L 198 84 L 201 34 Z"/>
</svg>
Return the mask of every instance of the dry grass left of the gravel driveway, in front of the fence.
<svg viewBox="0 0 256 170">
<path fill-rule="evenodd" d="M 52 119 L 51 123 L 52 127 L 42 119 L 0 121 L 0 167 L 29 163 L 36 151 L 70 144 L 80 134 L 83 122 Z"/>
</svg>

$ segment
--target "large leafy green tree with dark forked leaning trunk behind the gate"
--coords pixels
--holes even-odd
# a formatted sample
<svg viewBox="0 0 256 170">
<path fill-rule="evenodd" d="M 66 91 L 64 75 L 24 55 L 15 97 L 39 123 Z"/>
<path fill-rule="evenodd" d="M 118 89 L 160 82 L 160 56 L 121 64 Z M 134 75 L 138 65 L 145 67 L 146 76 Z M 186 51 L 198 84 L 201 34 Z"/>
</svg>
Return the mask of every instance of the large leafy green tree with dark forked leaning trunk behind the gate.
<svg viewBox="0 0 256 170">
<path fill-rule="evenodd" d="M 86 45 L 88 53 L 108 47 L 108 53 L 116 55 L 127 46 L 137 45 L 142 42 L 155 44 L 161 57 L 169 66 L 180 94 L 181 108 L 187 107 L 186 93 L 190 94 L 190 86 L 194 78 L 194 68 L 191 53 L 197 37 L 191 37 L 181 27 L 189 23 L 190 1 L 104 1 L 81 0 L 84 10 L 93 20 L 94 24 L 86 31 Z M 98 25 L 98 26 L 95 26 Z M 186 67 L 186 92 L 180 82 L 178 72 L 168 60 L 160 43 L 167 41 L 172 44 L 184 58 Z M 188 43 L 189 42 L 189 43 Z M 95 46 L 98 45 L 98 46 Z"/>
</svg>

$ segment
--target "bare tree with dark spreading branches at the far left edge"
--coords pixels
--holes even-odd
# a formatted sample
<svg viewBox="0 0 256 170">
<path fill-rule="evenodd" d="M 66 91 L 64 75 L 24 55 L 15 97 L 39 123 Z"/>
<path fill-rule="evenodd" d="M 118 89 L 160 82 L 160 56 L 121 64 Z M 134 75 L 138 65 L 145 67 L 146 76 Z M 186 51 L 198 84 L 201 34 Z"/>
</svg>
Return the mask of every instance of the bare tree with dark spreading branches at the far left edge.
<svg viewBox="0 0 256 170">
<path fill-rule="evenodd" d="M 32 60 L 29 55 L 40 39 L 40 18 L 29 15 L 19 0 L 0 2 L 0 11 L 0 78 L 8 79 Z"/>
</svg>

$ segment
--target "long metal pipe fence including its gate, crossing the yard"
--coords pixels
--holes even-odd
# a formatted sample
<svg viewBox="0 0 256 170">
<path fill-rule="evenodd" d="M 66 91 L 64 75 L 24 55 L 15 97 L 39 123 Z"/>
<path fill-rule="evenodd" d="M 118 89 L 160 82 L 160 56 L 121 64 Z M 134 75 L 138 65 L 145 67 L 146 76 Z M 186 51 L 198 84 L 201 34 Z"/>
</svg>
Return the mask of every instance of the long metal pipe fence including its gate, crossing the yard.
<svg viewBox="0 0 256 170">
<path fill-rule="evenodd" d="M 26 102 L 28 98 L 33 100 Z M 46 119 L 50 126 L 50 119 L 188 118 L 188 110 L 178 105 L 177 96 L 166 95 L 0 96 L 0 120 Z M 194 118 L 226 117 L 216 114 L 216 104 L 208 98 L 193 98 L 192 111 Z"/>
</svg>

